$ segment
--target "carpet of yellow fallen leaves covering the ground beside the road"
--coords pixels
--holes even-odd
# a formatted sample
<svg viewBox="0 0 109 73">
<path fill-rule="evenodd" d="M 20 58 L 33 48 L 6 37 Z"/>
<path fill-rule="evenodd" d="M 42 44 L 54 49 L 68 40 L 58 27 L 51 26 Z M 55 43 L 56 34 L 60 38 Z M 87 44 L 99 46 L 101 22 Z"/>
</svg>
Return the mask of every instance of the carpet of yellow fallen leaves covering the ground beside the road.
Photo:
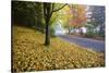
<svg viewBox="0 0 109 73">
<path fill-rule="evenodd" d="M 12 68 L 14 72 L 105 66 L 105 54 L 69 44 L 58 37 L 45 47 L 45 35 L 13 26 Z"/>
</svg>

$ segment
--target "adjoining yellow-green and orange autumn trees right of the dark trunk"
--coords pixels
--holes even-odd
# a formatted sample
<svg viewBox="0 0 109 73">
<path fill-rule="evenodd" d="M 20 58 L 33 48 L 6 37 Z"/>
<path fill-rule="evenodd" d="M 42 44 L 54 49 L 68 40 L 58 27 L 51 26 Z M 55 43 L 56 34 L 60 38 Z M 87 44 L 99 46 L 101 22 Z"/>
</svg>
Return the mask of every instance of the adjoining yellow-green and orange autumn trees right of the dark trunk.
<svg viewBox="0 0 109 73">
<path fill-rule="evenodd" d="M 63 9 L 53 13 L 51 21 L 53 20 L 53 24 L 60 22 L 71 34 L 72 27 L 80 28 L 86 23 L 85 9 L 86 7 L 83 4 L 66 4 Z"/>
</svg>

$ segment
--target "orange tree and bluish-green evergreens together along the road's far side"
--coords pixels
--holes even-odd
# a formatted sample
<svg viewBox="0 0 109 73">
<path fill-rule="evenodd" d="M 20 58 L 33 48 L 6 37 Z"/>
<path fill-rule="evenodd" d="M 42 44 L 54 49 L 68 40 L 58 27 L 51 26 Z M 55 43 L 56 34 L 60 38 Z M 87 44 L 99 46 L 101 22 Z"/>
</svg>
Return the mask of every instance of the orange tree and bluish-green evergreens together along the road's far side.
<svg viewBox="0 0 109 73">
<path fill-rule="evenodd" d="M 74 28 L 80 29 L 81 27 L 87 28 L 86 35 L 101 36 L 105 37 L 105 7 L 104 5 L 83 5 L 72 4 L 69 5 L 71 14 L 73 15 L 69 21 L 69 34 Z M 87 15 L 88 14 L 88 15 Z"/>
</svg>

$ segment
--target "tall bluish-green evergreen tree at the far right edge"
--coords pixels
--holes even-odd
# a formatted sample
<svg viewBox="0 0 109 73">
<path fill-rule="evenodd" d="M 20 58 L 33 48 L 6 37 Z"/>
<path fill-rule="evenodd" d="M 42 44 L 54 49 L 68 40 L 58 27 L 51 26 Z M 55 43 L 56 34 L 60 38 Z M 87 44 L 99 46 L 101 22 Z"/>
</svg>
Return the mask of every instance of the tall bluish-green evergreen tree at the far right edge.
<svg viewBox="0 0 109 73">
<path fill-rule="evenodd" d="M 94 27 L 99 27 L 99 35 L 105 35 L 105 7 L 102 5 L 90 5 L 92 11 L 90 23 Z"/>
</svg>

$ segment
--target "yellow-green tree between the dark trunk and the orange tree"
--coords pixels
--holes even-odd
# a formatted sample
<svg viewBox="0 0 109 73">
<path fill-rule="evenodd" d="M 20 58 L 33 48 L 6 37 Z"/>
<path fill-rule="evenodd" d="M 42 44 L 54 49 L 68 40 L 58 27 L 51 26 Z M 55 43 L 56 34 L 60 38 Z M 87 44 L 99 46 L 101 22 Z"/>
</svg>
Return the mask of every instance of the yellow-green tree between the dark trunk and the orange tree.
<svg viewBox="0 0 109 73">
<path fill-rule="evenodd" d="M 71 25 L 69 25 L 70 20 L 73 17 L 73 14 L 71 12 L 71 9 L 69 7 L 70 4 L 65 5 L 63 9 L 61 9 L 60 11 L 57 11 L 52 14 L 51 17 L 51 24 L 57 24 L 57 22 L 60 22 L 60 24 L 69 29 L 69 33 L 71 31 Z"/>
</svg>

